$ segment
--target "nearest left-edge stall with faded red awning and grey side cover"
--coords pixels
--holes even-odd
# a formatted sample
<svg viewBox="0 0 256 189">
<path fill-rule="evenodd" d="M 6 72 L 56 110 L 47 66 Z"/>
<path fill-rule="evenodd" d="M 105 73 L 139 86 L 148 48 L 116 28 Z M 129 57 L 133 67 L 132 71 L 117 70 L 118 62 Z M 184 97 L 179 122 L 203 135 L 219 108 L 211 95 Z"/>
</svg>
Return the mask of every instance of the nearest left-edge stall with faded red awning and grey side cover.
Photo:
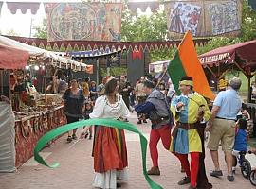
<svg viewBox="0 0 256 189">
<path fill-rule="evenodd" d="M 3 68 L 21 68 L 27 65 L 29 55 L 27 51 L 0 45 L 0 80 L 3 86 Z M 0 172 L 15 171 L 15 129 L 14 114 L 11 106 L 4 101 L 2 95 L 8 95 L 1 87 L 0 91 Z"/>
</svg>

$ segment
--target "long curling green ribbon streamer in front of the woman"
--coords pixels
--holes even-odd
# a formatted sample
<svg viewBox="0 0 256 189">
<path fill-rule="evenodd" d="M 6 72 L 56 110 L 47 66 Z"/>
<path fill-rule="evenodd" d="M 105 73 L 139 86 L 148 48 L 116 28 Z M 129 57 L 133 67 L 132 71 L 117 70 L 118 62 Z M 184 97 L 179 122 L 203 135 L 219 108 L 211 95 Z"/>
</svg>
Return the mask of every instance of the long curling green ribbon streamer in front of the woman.
<svg viewBox="0 0 256 189">
<path fill-rule="evenodd" d="M 59 166 L 59 163 L 54 163 L 52 165 L 47 164 L 46 161 L 39 155 L 39 152 L 46 146 L 46 144 L 49 141 L 58 137 L 59 135 L 64 134 L 67 131 L 76 129 L 76 128 L 82 128 L 83 126 L 93 126 L 93 125 L 106 126 L 106 127 L 118 128 L 118 129 L 126 129 L 126 130 L 137 133 L 140 138 L 140 147 L 141 147 L 141 154 L 142 154 L 142 168 L 143 168 L 144 177 L 152 189 L 163 189 L 163 187 L 161 187 L 159 184 L 155 183 L 155 181 L 151 180 L 151 178 L 147 174 L 147 168 L 146 168 L 146 154 L 147 154 L 147 144 L 148 144 L 147 139 L 143 136 L 143 134 L 133 124 L 118 121 L 118 120 L 87 119 L 87 120 L 74 122 L 71 124 L 66 124 L 62 127 L 56 128 L 56 129 L 52 129 L 49 132 L 47 132 L 44 136 L 42 136 L 40 138 L 40 140 L 37 142 L 37 145 L 34 148 L 35 161 L 37 161 L 38 163 L 41 163 L 43 165 L 46 165 L 47 167 L 56 168 L 57 166 Z"/>
</svg>

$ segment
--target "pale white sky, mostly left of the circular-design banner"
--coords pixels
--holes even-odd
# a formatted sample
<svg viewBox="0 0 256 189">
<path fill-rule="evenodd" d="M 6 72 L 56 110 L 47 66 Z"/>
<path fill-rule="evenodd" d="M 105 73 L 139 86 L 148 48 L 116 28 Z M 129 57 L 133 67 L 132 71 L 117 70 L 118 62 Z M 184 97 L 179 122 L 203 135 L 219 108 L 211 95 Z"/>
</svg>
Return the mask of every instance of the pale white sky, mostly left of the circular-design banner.
<svg viewBox="0 0 256 189">
<path fill-rule="evenodd" d="M 1 1 L 1 0 L 0 0 Z M 8 0 L 8 2 L 26 2 L 26 0 Z M 134 1 L 148 1 L 148 0 L 134 0 Z M 4 0 L 5 2 L 5 0 Z M 27 2 L 57 2 L 54 0 L 27 0 Z M 81 0 L 62 0 L 61 2 L 81 2 Z M 138 10 L 139 11 L 139 10 Z M 147 9 L 147 13 L 150 12 Z M 16 14 L 11 14 L 7 9 L 7 4 L 4 3 L 0 15 L 0 31 L 3 35 L 8 34 L 13 30 L 18 36 L 33 37 L 35 33 L 35 26 L 42 26 L 43 20 L 46 18 L 43 3 L 40 4 L 40 9 L 35 15 L 31 14 L 30 9 L 27 9 L 26 14 L 22 14 L 18 9 Z M 31 32 L 30 32 L 31 28 Z"/>
</svg>

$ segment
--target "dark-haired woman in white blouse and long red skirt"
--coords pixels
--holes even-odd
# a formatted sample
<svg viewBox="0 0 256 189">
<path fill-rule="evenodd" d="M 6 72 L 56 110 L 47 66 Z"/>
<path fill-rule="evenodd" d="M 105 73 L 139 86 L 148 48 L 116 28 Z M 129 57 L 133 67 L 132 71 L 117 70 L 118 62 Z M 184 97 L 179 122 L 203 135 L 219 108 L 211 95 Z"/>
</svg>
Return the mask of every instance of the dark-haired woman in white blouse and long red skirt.
<svg viewBox="0 0 256 189">
<path fill-rule="evenodd" d="M 114 77 L 105 84 L 105 94 L 96 100 L 90 118 L 126 118 L 129 115 Z M 117 180 L 127 180 L 127 149 L 123 129 L 96 126 L 93 147 L 95 178 L 94 187 L 116 189 Z"/>
</svg>

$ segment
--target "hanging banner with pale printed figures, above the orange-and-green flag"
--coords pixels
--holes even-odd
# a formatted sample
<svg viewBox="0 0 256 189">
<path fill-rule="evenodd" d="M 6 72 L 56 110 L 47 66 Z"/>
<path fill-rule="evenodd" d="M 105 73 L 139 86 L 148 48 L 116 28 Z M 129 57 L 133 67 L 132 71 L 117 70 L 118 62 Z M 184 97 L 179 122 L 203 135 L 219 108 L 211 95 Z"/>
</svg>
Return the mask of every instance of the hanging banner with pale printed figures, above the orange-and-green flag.
<svg viewBox="0 0 256 189">
<path fill-rule="evenodd" d="M 190 30 L 192 36 L 237 36 L 242 22 L 241 0 L 182 0 L 165 4 L 167 26 L 172 39 Z"/>
</svg>

